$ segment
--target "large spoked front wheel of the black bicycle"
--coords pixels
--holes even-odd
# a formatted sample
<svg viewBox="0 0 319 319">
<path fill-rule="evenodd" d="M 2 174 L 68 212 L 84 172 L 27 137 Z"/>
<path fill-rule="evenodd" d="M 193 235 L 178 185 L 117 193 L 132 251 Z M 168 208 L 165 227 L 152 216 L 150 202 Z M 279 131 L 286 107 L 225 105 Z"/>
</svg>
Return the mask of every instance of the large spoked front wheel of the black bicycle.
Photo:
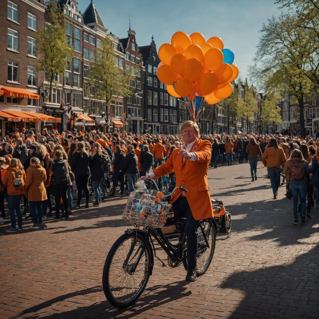
<svg viewBox="0 0 319 319">
<path fill-rule="evenodd" d="M 141 296 L 151 274 L 151 248 L 147 244 L 143 250 L 143 235 L 138 234 L 137 238 L 135 237 L 135 233 L 120 236 L 104 263 L 104 294 L 108 301 L 118 308 L 130 306 Z M 130 257 L 124 263 L 131 249 Z M 141 259 L 136 265 L 141 252 Z"/>
</svg>

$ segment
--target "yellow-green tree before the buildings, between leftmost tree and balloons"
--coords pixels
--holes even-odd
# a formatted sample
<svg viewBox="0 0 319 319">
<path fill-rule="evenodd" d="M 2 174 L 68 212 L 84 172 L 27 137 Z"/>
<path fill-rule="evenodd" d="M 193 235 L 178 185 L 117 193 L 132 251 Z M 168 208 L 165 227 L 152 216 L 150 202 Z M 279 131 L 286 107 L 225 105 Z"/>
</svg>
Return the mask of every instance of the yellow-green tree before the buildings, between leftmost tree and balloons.
<svg viewBox="0 0 319 319">
<path fill-rule="evenodd" d="M 105 102 L 105 119 L 109 130 L 109 107 L 114 96 L 130 96 L 132 89 L 131 73 L 123 72 L 117 67 L 113 42 L 108 35 L 97 49 L 95 60 L 90 70 L 91 85 L 94 85 L 94 98 Z"/>
</svg>

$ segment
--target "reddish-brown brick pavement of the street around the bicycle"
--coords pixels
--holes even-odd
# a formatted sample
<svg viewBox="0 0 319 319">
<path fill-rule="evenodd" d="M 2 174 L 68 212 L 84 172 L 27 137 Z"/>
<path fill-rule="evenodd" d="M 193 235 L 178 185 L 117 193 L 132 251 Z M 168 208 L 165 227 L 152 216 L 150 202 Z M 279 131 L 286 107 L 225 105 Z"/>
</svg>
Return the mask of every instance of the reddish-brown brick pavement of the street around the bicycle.
<svg viewBox="0 0 319 319">
<path fill-rule="evenodd" d="M 210 193 L 232 214 L 232 233 L 218 235 L 214 259 L 196 282 L 183 266 L 161 267 L 136 304 L 116 309 L 101 277 L 110 247 L 128 227 L 126 197 L 75 210 L 69 221 L 9 234 L 0 225 L 0 318 L 318 318 L 319 210 L 293 225 L 292 202 L 280 188 L 272 199 L 258 162 L 209 169 Z"/>
</svg>

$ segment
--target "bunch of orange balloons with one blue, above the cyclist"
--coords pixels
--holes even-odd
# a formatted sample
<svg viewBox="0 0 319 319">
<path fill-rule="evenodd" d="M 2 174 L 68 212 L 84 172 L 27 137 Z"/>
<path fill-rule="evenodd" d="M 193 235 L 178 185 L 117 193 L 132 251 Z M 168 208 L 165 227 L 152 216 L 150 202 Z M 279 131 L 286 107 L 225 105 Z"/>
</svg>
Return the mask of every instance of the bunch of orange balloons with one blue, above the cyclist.
<svg viewBox="0 0 319 319">
<path fill-rule="evenodd" d="M 167 85 L 167 92 L 183 98 L 194 121 L 198 121 L 206 104 L 216 104 L 232 94 L 230 84 L 238 76 L 234 54 L 224 49 L 219 37 L 207 41 L 201 33 L 190 36 L 182 31 L 173 34 L 171 44 L 158 49 L 161 59 L 157 77 Z"/>
</svg>

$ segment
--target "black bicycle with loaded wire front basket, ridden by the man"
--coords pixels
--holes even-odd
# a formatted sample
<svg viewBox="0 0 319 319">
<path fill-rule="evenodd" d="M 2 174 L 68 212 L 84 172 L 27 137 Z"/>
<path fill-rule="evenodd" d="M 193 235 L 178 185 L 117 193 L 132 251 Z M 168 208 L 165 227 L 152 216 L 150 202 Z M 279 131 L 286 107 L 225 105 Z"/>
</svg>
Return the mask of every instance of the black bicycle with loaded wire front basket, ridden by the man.
<svg viewBox="0 0 319 319">
<path fill-rule="evenodd" d="M 186 219 L 180 218 L 175 223 L 176 229 L 168 233 L 164 233 L 166 232 L 165 227 L 164 229 L 161 228 L 165 225 L 167 218 L 173 217 L 172 212 L 169 211 L 171 205 L 168 202 L 177 189 L 187 192 L 187 189 L 180 186 L 175 187 L 170 194 L 163 196 L 161 208 L 165 207 L 162 209 L 162 214 L 158 214 L 158 216 L 154 214 L 154 208 L 149 208 L 151 205 L 149 203 L 147 211 L 143 211 L 143 208 L 136 214 L 136 209 L 132 209 L 132 207 L 139 206 L 130 204 L 132 198 L 128 200 L 123 218 L 135 225 L 135 228 L 125 230 L 124 234 L 113 244 L 103 268 L 103 291 L 105 297 L 113 306 L 118 308 L 128 307 L 141 296 L 149 276 L 152 274 L 154 256 L 162 262 L 162 267 L 166 267 L 166 264 L 156 256 L 153 238 L 167 254 L 167 263 L 170 267 L 175 268 L 182 263 L 184 269 L 188 270 L 186 234 L 184 231 Z M 143 204 L 144 202 L 142 203 L 139 200 L 138 205 Z M 165 215 L 163 215 L 164 210 Z M 141 214 L 143 218 L 141 218 Z M 144 226 L 144 228 L 138 229 L 138 226 Z M 215 251 L 216 233 L 221 226 L 221 219 L 218 220 L 218 223 L 214 218 L 199 222 L 197 228 L 197 276 L 203 275 L 211 263 Z M 177 240 L 177 244 L 173 244 L 170 240 Z"/>
</svg>

